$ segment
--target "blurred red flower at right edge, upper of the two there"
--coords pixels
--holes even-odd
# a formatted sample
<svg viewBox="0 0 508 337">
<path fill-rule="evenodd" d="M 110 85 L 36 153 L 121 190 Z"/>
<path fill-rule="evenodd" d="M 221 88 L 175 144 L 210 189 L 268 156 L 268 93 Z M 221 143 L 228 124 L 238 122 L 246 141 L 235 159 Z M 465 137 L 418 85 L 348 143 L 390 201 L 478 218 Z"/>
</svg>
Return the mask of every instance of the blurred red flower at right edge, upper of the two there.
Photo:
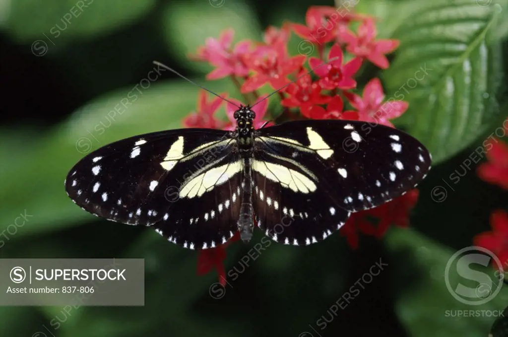
<svg viewBox="0 0 508 337">
<path fill-rule="evenodd" d="M 490 145 L 490 150 L 487 150 Z M 508 145 L 494 139 L 485 146 L 488 163 L 478 167 L 478 176 L 508 190 Z"/>
</svg>

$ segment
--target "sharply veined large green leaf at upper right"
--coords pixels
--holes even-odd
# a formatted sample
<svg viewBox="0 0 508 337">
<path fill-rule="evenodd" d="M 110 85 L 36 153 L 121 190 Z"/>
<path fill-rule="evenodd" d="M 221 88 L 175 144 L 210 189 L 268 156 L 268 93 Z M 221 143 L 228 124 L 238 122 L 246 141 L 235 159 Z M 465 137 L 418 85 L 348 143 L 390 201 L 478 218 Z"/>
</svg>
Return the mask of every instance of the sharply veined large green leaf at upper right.
<svg viewBox="0 0 508 337">
<path fill-rule="evenodd" d="M 469 146 L 499 119 L 502 81 L 498 5 L 459 1 L 421 10 L 394 33 L 397 56 L 384 72 L 388 97 L 409 102 L 398 126 L 422 141 L 434 163 Z"/>
</svg>

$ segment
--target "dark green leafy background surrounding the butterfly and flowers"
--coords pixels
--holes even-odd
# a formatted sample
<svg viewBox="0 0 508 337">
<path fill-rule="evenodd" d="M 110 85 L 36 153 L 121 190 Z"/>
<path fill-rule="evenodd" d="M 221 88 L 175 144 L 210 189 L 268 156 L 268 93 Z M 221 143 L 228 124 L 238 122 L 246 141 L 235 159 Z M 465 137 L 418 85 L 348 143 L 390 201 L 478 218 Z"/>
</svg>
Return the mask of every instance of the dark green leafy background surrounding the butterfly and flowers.
<svg viewBox="0 0 508 337">
<path fill-rule="evenodd" d="M 209 295 L 216 274 L 196 275 L 196 251 L 176 247 L 151 230 L 98 220 L 74 205 L 63 179 L 84 156 L 76 142 L 89 138 L 95 149 L 181 127 L 181 118 L 195 109 L 198 88 L 169 72 L 113 122 L 106 118 L 147 76 L 152 60 L 240 98 L 227 79 L 206 81 L 211 68 L 186 55 L 227 27 L 235 29 L 235 41 L 261 40 L 269 24 L 303 23 L 308 6 L 333 3 L 226 0 L 214 8 L 207 0 L 94 0 L 55 38 L 51 29 L 64 27 L 61 18 L 76 3 L 0 1 L 0 231 L 24 210 L 32 216 L 15 234 L 6 234 L 8 240 L 3 237 L 0 254 L 145 258 L 146 304 L 81 307 L 68 314 L 60 307 L 0 307 L 0 335 L 44 337 L 40 331 L 49 336 L 45 327 L 58 337 L 309 336 L 304 331 L 316 337 L 312 328 L 323 337 L 488 334 L 493 318 L 450 318 L 445 311 L 502 310 L 508 290 L 484 305 L 462 304 L 447 290 L 444 267 L 475 234 L 489 230 L 492 209 L 508 206 L 506 192 L 481 181 L 474 167 L 457 183 L 450 178 L 456 170 L 464 174 L 464 160 L 508 115 L 506 0 L 360 0 L 359 12 L 379 18 L 380 37 L 401 41 L 390 69 L 361 69 L 360 87 L 377 76 L 387 97 L 393 97 L 419 67 L 432 69 L 405 94 L 410 107 L 396 121 L 424 142 L 435 160 L 420 187 L 411 228 L 392 228 L 382 240 L 361 236 L 356 251 L 340 234 L 309 247 L 271 244 L 218 300 Z M 48 46 L 43 56 L 32 52 L 40 52 L 40 43 L 31 49 L 38 40 Z M 300 41 L 292 35 L 292 54 Z M 270 107 L 280 109 L 276 97 Z M 101 122 L 108 127 L 99 134 L 94 128 Z M 442 202 L 432 199 L 437 186 L 448 192 Z M 257 232 L 248 245 L 228 248 L 226 270 L 241 270 L 240 259 L 261 237 Z M 316 320 L 330 320 L 331 305 L 379 259 L 388 263 L 384 271 L 320 330 Z M 481 270 L 493 274 L 491 268 Z M 61 321 L 58 329 L 50 324 L 55 319 Z"/>
</svg>

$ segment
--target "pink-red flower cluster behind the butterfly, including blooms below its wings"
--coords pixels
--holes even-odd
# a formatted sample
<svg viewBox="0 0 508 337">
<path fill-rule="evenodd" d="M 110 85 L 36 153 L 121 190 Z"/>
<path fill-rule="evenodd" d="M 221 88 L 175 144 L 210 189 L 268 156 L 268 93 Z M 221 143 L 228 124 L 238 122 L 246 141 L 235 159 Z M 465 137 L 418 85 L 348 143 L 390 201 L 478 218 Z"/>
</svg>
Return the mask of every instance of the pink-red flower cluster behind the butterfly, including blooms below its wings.
<svg viewBox="0 0 508 337">
<path fill-rule="evenodd" d="M 360 22 L 356 33 L 349 28 L 352 21 Z M 388 68 L 385 54 L 395 50 L 399 42 L 376 40 L 372 18 L 351 11 L 343 13 L 333 7 L 310 7 L 305 22 L 306 25 L 287 23 L 282 28 L 268 27 L 264 42 L 241 41 L 234 46 L 233 30 L 228 29 L 218 39 L 207 39 L 205 46 L 200 47 L 198 53 L 192 57 L 215 68 L 207 75 L 208 79 L 229 76 L 246 100 L 249 100 L 250 95 L 259 101 L 257 90 L 266 84 L 273 90 L 284 87 L 278 94 L 280 104 L 285 108 L 283 117 L 287 119 L 295 118 L 295 114 L 290 110 L 296 110 L 304 118 L 363 120 L 393 127 L 390 119 L 404 113 L 408 104 L 402 101 L 383 103 L 385 94 L 377 78 L 371 79 L 365 85 L 362 96 L 356 94 L 354 91 L 357 90 L 358 83 L 355 76 L 365 62 L 371 62 L 382 69 Z M 307 54 L 290 55 L 287 43 L 291 30 L 313 44 L 319 57 L 308 58 Z M 327 44 L 330 45 L 330 50 L 325 58 L 324 48 Z M 344 57 L 344 51 L 350 54 L 349 57 Z M 345 62 L 345 59 L 348 61 Z M 315 68 L 314 73 L 318 79 L 312 80 L 311 75 L 307 74 L 309 68 L 305 67 L 306 62 L 310 69 Z M 253 102 L 249 103 L 252 105 Z M 186 117 L 184 125 L 232 130 L 236 107 L 227 104 L 229 121 L 223 121 L 214 116 L 220 104 L 218 98 L 208 103 L 203 91 L 197 112 Z M 350 109 L 344 110 L 345 104 L 348 104 Z M 268 100 L 255 106 L 256 127 L 263 123 L 267 106 Z M 365 234 L 382 237 L 390 224 L 405 227 L 408 212 L 417 199 L 418 190 L 412 190 L 383 206 L 355 213 L 341 231 L 350 245 L 357 248 L 357 229 Z M 377 218 L 377 225 L 368 222 L 365 215 Z M 204 250 L 200 254 L 199 273 L 208 272 L 215 267 L 219 281 L 225 282 L 226 275 L 221 262 L 226 256 L 224 247 Z"/>
</svg>

